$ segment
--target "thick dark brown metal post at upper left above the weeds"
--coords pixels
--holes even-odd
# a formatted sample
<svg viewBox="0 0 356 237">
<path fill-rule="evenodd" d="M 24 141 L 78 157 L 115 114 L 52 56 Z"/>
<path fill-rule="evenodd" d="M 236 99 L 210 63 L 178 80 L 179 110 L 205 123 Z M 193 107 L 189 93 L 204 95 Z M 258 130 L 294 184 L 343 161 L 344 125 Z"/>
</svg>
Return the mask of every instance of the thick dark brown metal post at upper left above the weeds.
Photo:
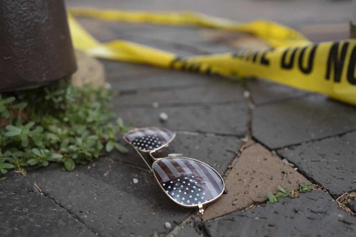
<svg viewBox="0 0 356 237">
<path fill-rule="evenodd" d="M 0 90 L 47 84 L 76 69 L 63 0 L 0 0 Z"/>
</svg>

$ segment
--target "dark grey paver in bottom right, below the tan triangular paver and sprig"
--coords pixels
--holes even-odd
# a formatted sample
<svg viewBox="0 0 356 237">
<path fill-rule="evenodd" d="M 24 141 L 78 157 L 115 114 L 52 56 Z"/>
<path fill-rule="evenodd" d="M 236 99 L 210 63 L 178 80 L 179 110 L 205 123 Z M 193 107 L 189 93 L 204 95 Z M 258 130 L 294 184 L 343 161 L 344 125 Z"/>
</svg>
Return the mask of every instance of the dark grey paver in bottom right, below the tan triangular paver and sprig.
<svg viewBox="0 0 356 237">
<path fill-rule="evenodd" d="M 355 236 L 356 219 L 322 190 L 205 223 L 210 236 Z"/>
</svg>

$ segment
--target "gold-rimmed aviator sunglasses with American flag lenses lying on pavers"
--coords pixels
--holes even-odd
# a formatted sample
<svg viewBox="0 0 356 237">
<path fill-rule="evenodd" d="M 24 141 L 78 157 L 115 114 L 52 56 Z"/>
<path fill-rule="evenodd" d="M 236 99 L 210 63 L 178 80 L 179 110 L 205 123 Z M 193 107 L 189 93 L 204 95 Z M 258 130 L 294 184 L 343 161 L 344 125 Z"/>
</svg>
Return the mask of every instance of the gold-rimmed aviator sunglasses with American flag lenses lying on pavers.
<svg viewBox="0 0 356 237">
<path fill-rule="evenodd" d="M 160 127 L 135 128 L 124 134 L 124 140 L 145 161 L 164 193 L 176 204 L 197 207 L 203 214 L 203 205 L 227 193 L 224 180 L 211 166 L 182 154 L 169 154 L 164 158 L 153 156 L 154 152 L 166 148 L 175 137 L 175 131 Z M 152 166 L 140 152 L 149 154 Z"/>
</svg>

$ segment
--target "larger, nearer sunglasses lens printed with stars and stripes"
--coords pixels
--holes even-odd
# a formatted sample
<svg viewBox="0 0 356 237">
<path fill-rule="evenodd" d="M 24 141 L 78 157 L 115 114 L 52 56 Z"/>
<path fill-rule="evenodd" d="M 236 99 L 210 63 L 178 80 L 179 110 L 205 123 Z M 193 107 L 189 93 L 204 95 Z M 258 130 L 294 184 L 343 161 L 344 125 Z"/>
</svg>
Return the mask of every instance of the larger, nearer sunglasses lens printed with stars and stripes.
<svg viewBox="0 0 356 237">
<path fill-rule="evenodd" d="M 214 169 L 189 158 L 168 157 L 153 163 L 153 173 L 177 203 L 197 206 L 223 193 L 224 182 Z"/>
</svg>

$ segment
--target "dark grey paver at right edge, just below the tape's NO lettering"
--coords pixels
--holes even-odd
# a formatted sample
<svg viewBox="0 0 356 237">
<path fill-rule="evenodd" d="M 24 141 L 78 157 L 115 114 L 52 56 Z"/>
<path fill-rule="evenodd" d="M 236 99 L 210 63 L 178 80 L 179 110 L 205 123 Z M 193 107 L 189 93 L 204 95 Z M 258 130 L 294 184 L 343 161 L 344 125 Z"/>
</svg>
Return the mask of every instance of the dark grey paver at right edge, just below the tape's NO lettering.
<svg viewBox="0 0 356 237">
<path fill-rule="evenodd" d="M 276 149 L 355 130 L 355 120 L 355 107 L 312 95 L 256 107 L 252 135 Z"/>
</svg>

